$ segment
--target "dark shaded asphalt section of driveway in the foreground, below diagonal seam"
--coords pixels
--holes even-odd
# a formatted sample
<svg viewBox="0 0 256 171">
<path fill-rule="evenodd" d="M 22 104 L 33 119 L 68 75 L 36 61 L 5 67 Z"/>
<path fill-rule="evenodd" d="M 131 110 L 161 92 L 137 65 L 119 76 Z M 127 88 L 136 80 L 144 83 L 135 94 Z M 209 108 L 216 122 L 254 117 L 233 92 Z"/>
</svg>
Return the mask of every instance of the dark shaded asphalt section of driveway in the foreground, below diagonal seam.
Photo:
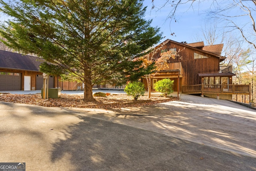
<svg viewBox="0 0 256 171">
<path fill-rule="evenodd" d="M 92 117 L 68 127 L 51 160 L 73 170 L 252 170 L 253 158 Z M 228 163 L 228 165 L 227 165 Z"/>
</svg>

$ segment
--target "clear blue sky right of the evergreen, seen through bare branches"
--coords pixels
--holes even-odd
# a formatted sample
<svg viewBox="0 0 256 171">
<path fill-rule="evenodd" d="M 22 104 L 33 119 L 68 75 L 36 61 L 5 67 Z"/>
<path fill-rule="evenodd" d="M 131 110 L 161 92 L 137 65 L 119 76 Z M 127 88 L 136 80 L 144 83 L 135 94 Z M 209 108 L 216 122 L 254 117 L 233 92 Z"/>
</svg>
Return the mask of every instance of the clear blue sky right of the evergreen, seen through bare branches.
<svg viewBox="0 0 256 171">
<path fill-rule="evenodd" d="M 205 30 L 205 28 L 209 25 L 216 24 L 216 20 L 214 21 L 213 18 L 210 18 L 209 14 L 206 12 L 211 6 L 216 6 L 216 4 L 212 4 L 212 0 L 203 1 L 201 3 L 198 3 L 198 1 L 194 1 L 192 7 L 190 6 L 191 2 L 178 6 L 176 10 L 176 22 L 174 22 L 174 20 L 171 21 L 170 18 L 167 18 L 170 10 L 173 8 L 170 6 L 170 4 L 167 4 L 164 8 L 159 9 L 159 7 L 166 1 L 167 0 L 154 0 L 154 9 L 152 9 L 152 0 L 144 0 L 143 2 L 144 6 L 148 6 L 145 19 L 152 19 L 152 26 L 159 27 L 161 32 L 163 32 L 163 37 L 165 38 L 162 39 L 161 42 L 166 39 L 171 39 L 176 42 L 198 42 L 198 37 L 200 37 L 201 40 L 204 39 L 204 37 L 202 36 L 202 30 Z M 223 7 L 226 6 L 228 3 L 230 2 L 218 1 L 218 5 Z M 242 14 L 243 11 L 239 11 L 238 9 L 239 8 L 235 10 L 231 9 L 225 12 L 227 12 L 230 16 Z M 256 15 L 256 12 L 254 13 L 254 15 Z M 236 24 L 238 24 L 239 26 L 242 26 L 243 30 L 245 30 L 246 27 L 252 24 L 250 18 L 246 16 L 238 17 L 236 19 L 232 18 L 232 20 L 235 21 Z M 224 30 L 226 26 L 223 21 L 217 22 L 217 25 L 219 28 L 219 32 L 222 32 L 222 30 Z M 173 36 L 171 35 L 172 33 L 174 33 Z M 250 33 L 250 31 L 244 33 Z M 240 36 L 240 33 L 238 32 L 237 35 Z M 235 33 L 233 33 L 233 36 L 236 36 Z M 220 43 L 222 43 L 221 40 L 216 41 L 215 44 Z"/>
</svg>

